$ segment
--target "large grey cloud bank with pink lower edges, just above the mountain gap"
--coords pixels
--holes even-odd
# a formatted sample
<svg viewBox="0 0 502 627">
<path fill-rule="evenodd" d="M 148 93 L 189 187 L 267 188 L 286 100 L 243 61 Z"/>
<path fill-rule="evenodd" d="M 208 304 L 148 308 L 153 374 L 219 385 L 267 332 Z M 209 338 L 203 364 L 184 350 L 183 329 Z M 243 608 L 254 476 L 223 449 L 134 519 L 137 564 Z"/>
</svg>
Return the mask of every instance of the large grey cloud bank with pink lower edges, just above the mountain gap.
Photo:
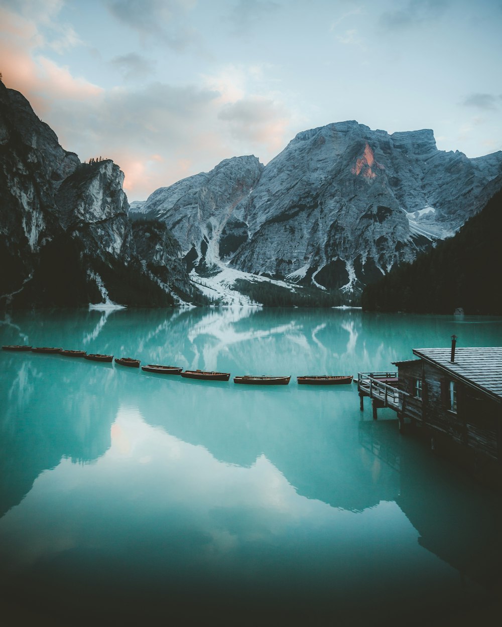
<svg viewBox="0 0 502 627">
<path fill-rule="evenodd" d="M 267 162 L 291 135 L 291 113 L 279 100 L 243 95 L 223 102 L 220 92 L 194 85 L 115 89 L 94 110 L 82 108 L 80 125 L 75 110 L 54 115 L 70 149 L 93 146 L 81 158 L 102 154 L 119 164 L 131 201 L 228 157 L 254 152 Z"/>
</svg>

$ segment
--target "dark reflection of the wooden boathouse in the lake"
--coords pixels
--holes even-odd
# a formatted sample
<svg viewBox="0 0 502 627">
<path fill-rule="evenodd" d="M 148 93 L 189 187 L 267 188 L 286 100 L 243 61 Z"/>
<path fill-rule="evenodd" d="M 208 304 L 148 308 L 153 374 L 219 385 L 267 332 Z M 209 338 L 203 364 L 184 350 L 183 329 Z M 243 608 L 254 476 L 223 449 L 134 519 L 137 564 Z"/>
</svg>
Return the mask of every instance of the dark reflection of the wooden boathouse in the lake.
<svg viewBox="0 0 502 627">
<path fill-rule="evenodd" d="M 425 444 L 400 435 L 397 421 L 361 421 L 361 446 L 399 474 L 395 502 L 419 544 L 462 577 L 491 587 L 502 579 L 502 503 Z"/>
</svg>

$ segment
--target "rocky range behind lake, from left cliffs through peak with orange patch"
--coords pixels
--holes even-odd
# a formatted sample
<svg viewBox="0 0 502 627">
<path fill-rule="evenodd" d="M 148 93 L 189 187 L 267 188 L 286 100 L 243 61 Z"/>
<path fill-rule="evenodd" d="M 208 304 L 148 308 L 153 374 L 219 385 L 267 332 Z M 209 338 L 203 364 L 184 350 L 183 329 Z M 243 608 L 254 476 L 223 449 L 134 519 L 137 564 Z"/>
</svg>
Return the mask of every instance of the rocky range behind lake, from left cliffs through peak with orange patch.
<svg viewBox="0 0 502 627">
<path fill-rule="evenodd" d="M 502 188 L 502 152 L 355 121 L 301 132 L 131 207 L 110 159 L 81 163 L 0 80 L 0 308 L 357 304 Z"/>
</svg>

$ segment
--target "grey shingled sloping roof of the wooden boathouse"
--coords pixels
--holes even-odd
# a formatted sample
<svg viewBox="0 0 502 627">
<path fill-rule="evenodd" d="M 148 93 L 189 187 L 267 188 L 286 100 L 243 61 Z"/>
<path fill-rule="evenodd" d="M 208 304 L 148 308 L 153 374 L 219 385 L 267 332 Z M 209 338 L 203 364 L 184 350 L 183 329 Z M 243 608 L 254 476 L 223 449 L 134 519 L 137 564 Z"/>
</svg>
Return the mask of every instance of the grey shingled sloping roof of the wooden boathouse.
<svg viewBox="0 0 502 627">
<path fill-rule="evenodd" d="M 490 348 L 456 348 L 451 362 L 451 349 L 413 349 L 420 359 L 450 372 L 470 386 L 477 387 L 502 402 L 502 346 Z"/>
</svg>

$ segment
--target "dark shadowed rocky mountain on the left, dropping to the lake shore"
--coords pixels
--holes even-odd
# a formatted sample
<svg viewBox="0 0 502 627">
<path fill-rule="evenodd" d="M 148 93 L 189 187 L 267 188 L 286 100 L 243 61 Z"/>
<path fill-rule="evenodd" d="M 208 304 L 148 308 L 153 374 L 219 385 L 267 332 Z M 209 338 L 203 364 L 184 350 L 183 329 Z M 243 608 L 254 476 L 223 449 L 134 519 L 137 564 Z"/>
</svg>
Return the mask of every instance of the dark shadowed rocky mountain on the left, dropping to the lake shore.
<svg viewBox="0 0 502 627">
<path fill-rule="evenodd" d="M 178 243 L 165 225 L 132 228 L 123 182 L 110 159 L 85 164 L 64 150 L 0 82 L 0 307 L 191 299 Z"/>
</svg>

